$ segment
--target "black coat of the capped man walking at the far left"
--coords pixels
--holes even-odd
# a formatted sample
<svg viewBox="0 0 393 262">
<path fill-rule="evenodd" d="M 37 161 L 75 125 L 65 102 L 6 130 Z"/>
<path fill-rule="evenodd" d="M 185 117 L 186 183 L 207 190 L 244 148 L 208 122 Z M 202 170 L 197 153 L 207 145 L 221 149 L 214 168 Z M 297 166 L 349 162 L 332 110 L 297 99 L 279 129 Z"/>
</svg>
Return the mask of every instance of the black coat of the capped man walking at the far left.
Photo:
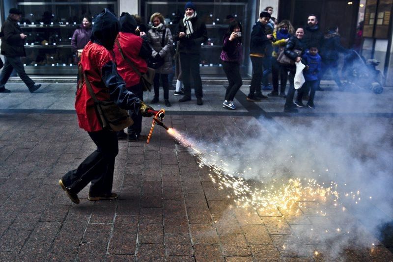
<svg viewBox="0 0 393 262">
<path fill-rule="evenodd" d="M 1 26 L 1 54 L 7 56 L 26 56 L 25 52 L 25 39 L 21 39 L 21 27 L 17 21 L 8 17 L 4 24 Z"/>
</svg>

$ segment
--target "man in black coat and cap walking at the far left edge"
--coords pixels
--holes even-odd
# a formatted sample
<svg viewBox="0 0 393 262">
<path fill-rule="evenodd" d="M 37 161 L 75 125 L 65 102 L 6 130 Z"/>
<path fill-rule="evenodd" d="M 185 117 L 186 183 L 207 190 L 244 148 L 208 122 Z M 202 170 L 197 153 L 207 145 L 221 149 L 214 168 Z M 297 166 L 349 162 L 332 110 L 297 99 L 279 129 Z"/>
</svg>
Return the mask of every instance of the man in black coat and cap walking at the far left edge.
<svg viewBox="0 0 393 262">
<path fill-rule="evenodd" d="M 0 74 L 0 93 L 11 92 L 5 89 L 4 85 L 8 81 L 13 69 L 15 69 L 22 81 L 28 86 L 28 90 L 31 93 L 41 87 L 40 84 L 35 84 L 28 77 L 21 61 L 21 56 L 26 56 L 24 44 L 27 37 L 18 25 L 21 15 L 22 12 L 20 10 L 11 8 L 7 20 L 1 26 L 1 54 L 4 55 L 5 62 Z"/>
</svg>

